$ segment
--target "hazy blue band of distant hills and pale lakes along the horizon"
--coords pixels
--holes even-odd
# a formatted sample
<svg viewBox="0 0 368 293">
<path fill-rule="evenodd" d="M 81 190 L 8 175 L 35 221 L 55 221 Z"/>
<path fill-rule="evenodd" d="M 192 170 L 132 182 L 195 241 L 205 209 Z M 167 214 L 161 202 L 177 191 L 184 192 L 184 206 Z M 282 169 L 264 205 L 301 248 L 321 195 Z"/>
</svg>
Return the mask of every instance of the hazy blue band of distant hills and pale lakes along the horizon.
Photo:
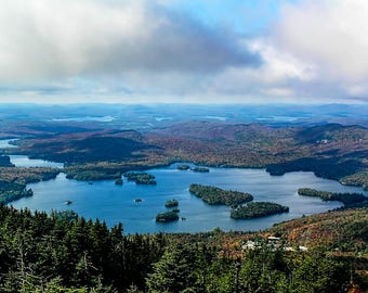
<svg viewBox="0 0 368 293">
<path fill-rule="evenodd" d="M 0 119 L 48 124 L 102 124 L 104 127 L 154 128 L 185 120 L 260 123 L 270 126 L 339 123 L 368 126 L 366 104 L 0 104 Z"/>
</svg>

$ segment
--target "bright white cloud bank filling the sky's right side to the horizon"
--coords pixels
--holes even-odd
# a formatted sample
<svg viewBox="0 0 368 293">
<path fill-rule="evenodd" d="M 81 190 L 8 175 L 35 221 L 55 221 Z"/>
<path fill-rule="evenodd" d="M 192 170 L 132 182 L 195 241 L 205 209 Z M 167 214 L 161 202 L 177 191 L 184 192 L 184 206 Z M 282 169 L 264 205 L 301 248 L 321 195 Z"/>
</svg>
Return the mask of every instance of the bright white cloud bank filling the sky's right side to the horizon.
<svg viewBox="0 0 368 293">
<path fill-rule="evenodd" d="M 268 36 L 246 40 L 261 66 L 228 68 L 216 90 L 260 101 L 368 102 L 367 12 L 359 0 L 285 2 Z"/>
</svg>

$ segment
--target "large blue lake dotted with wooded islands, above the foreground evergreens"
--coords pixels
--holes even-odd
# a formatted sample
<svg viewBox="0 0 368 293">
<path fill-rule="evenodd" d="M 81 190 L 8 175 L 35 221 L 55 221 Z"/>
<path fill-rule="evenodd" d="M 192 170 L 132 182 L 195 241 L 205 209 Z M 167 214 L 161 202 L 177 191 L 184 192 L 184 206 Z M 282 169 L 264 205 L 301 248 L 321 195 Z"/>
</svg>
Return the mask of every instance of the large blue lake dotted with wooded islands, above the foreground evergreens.
<svg viewBox="0 0 368 293">
<path fill-rule="evenodd" d="M 148 171 L 156 176 L 157 186 L 137 186 L 126 179 L 123 186 L 116 186 L 114 180 L 89 184 L 69 180 L 65 174 L 60 174 L 54 180 L 28 184 L 34 190 L 34 196 L 21 199 L 12 205 L 31 211 L 73 209 L 87 218 L 105 220 L 109 226 L 121 221 L 126 233 L 198 232 L 216 227 L 226 231 L 254 231 L 268 228 L 275 222 L 342 205 L 339 202 L 300 196 L 297 193 L 299 188 L 364 193 L 362 188 L 341 186 L 337 181 L 302 171 L 280 177 L 270 176 L 264 169 L 210 168 L 210 173 L 194 173 L 178 170 L 175 164 Z M 287 205 L 290 212 L 264 218 L 234 220 L 229 217 L 229 207 L 210 206 L 192 195 L 188 191 L 190 183 L 249 192 L 253 194 L 254 201 Z M 142 199 L 143 202 L 136 204 L 134 199 Z M 180 216 L 186 220 L 157 224 L 156 214 L 165 212 L 165 203 L 172 199 L 179 201 Z M 65 201 L 71 201 L 71 204 L 65 205 Z"/>
</svg>

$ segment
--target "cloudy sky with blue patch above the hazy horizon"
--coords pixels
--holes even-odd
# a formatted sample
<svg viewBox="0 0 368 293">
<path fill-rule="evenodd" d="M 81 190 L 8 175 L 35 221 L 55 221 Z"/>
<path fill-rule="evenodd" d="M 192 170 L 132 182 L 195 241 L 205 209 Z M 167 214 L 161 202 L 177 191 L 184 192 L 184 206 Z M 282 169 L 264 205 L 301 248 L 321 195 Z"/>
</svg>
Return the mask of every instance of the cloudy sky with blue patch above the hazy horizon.
<svg viewBox="0 0 368 293">
<path fill-rule="evenodd" d="M 0 0 L 0 103 L 368 103 L 365 0 Z"/>
</svg>

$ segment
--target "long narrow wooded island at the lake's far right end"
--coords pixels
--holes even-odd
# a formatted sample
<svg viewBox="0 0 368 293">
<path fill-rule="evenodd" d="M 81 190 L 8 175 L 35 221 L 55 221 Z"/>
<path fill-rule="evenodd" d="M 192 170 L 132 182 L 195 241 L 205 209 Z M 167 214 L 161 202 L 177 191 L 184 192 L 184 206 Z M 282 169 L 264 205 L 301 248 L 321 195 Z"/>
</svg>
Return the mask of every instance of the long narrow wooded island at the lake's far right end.
<svg viewBox="0 0 368 293">
<path fill-rule="evenodd" d="M 321 191 L 311 188 L 300 188 L 298 190 L 298 194 L 304 196 L 317 196 L 320 198 L 323 201 L 339 201 L 346 205 L 362 203 L 368 200 L 362 193 L 339 193 Z"/>
</svg>

